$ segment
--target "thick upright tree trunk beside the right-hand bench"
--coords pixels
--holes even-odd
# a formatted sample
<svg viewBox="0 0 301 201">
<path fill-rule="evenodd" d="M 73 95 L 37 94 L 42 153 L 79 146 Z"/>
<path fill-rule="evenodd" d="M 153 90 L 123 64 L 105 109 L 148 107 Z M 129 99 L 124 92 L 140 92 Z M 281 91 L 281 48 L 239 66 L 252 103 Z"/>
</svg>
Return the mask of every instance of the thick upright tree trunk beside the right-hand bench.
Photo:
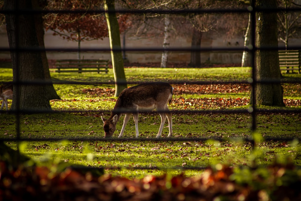
<svg viewBox="0 0 301 201">
<path fill-rule="evenodd" d="M 257 0 L 257 8 L 276 8 L 276 0 Z M 256 80 L 274 80 L 280 82 L 280 67 L 278 60 L 277 14 L 274 12 L 256 13 Z M 270 47 L 275 50 L 263 50 Z M 280 83 L 257 83 L 255 88 L 255 103 L 257 105 L 285 106 L 283 88 Z M 251 98 L 252 100 L 252 98 Z"/>
</svg>

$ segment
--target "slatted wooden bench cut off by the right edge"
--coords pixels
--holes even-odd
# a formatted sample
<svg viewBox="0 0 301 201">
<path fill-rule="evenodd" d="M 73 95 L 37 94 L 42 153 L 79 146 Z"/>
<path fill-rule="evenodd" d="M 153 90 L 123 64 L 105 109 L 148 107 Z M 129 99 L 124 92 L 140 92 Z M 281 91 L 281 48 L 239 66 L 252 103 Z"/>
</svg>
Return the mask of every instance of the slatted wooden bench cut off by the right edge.
<svg viewBox="0 0 301 201">
<path fill-rule="evenodd" d="M 300 50 L 279 50 L 280 70 L 286 70 L 286 73 L 301 71 L 301 51 Z"/>
</svg>

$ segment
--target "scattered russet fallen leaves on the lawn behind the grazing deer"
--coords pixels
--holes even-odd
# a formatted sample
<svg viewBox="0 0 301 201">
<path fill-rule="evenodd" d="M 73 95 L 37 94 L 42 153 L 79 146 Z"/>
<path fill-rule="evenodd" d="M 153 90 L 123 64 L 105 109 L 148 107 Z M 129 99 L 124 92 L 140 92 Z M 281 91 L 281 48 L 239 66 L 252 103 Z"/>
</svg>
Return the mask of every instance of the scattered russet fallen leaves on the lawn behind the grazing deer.
<svg viewBox="0 0 301 201">
<path fill-rule="evenodd" d="M 203 85 L 186 85 L 174 84 L 175 95 L 182 94 L 223 94 L 226 93 L 250 93 L 249 84 L 203 84 Z M 287 87 L 287 86 L 285 86 Z M 95 98 L 100 96 L 114 96 L 114 88 L 91 88 L 83 89 L 87 97 Z M 113 100 L 113 99 L 112 99 Z M 112 101 L 110 100 L 110 101 Z M 93 101 L 93 100 L 91 100 Z M 248 105 L 250 98 L 173 98 L 172 104 L 177 105 L 178 109 L 223 109 Z M 284 99 L 284 104 L 288 107 L 301 105 L 301 100 Z"/>
</svg>

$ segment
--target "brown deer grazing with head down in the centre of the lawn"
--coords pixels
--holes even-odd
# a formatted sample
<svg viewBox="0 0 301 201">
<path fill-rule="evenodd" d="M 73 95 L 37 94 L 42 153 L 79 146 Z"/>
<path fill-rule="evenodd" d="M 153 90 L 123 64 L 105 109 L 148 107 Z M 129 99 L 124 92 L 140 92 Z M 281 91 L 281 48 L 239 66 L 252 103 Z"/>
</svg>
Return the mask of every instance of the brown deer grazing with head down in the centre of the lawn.
<svg viewBox="0 0 301 201">
<path fill-rule="evenodd" d="M 161 124 L 156 138 L 161 136 L 166 118 L 169 125 L 168 137 L 170 137 L 172 135 L 172 114 L 169 112 L 167 104 L 171 102 L 172 92 L 173 87 L 168 83 L 141 84 L 123 90 L 116 101 L 111 116 L 108 119 L 101 117 L 104 122 L 104 138 L 113 135 L 117 121 L 122 113 L 125 114 L 125 117 L 118 138 L 123 136 L 124 129 L 131 115 L 134 118 L 136 138 L 138 138 L 139 111 L 152 111 L 154 109 L 159 112 L 161 117 Z"/>
</svg>

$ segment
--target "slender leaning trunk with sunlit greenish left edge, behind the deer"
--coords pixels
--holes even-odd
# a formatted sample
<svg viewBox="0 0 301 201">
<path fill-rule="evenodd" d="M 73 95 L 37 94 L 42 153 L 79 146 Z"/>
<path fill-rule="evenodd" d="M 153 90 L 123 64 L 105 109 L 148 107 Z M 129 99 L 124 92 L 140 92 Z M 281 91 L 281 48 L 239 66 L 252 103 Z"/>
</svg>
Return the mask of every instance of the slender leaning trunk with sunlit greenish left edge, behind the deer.
<svg viewBox="0 0 301 201">
<path fill-rule="evenodd" d="M 104 1 L 104 10 L 106 11 L 106 19 L 109 30 L 111 58 L 113 65 L 113 73 L 115 80 L 115 97 L 127 88 L 126 74 L 124 73 L 123 59 L 120 43 L 119 25 L 115 13 L 114 0 Z M 120 49 L 118 51 L 113 49 Z"/>
</svg>

